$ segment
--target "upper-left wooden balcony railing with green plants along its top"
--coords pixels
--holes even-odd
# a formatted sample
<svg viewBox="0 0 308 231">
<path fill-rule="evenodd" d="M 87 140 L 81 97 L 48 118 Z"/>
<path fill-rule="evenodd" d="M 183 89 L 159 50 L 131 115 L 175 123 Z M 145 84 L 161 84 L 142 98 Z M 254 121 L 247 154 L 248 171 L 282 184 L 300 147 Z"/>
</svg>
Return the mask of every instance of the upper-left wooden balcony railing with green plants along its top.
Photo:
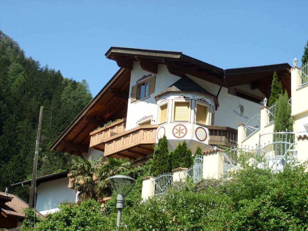
<svg viewBox="0 0 308 231">
<path fill-rule="evenodd" d="M 103 151 L 104 140 L 112 136 L 115 136 L 121 132 L 124 132 L 125 126 L 126 126 L 126 118 L 116 121 L 107 127 L 99 128 L 98 130 L 91 132 L 90 148 L 99 145 L 98 149 L 101 149 Z"/>
</svg>

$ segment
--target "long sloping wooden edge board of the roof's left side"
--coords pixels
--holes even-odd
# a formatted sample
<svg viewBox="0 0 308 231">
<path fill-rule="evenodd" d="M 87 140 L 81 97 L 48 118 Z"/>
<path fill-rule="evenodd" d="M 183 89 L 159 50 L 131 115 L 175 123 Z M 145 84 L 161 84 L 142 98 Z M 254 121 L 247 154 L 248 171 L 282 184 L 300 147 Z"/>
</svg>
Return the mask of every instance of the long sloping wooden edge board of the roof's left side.
<svg viewBox="0 0 308 231">
<path fill-rule="evenodd" d="M 73 122 L 71 122 L 71 124 L 68 125 L 67 128 L 62 132 L 62 134 L 55 140 L 55 142 L 50 146 L 51 150 L 54 150 L 60 144 L 63 138 L 67 136 L 69 132 L 71 132 L 71 129 L 74 128 L 75 125 L 83 118 L 83 116 L 85 116 L 86 113 L 89 110 L 91 110 L 92 107 L 95 106 L 97 101 L 106 93 L 106 91 L 109 89 L 111 84 L 114 83 L 115 80 L 118 79 L 119 76 L 123 74 L 124 72 L 125 72 L 125 69 L 123 68 L 120 68 L 120 70 L 117 71 L 114 77 L 109 80 L 109 82 L 103 87 L 103 89 L 94 97 L 94 99 L 91 100 L 90 103 L 88 103 L 88 105 L 79 113 L 79 115 L 77 115 L 75 120 L 73 120 Z"/>
</svg>

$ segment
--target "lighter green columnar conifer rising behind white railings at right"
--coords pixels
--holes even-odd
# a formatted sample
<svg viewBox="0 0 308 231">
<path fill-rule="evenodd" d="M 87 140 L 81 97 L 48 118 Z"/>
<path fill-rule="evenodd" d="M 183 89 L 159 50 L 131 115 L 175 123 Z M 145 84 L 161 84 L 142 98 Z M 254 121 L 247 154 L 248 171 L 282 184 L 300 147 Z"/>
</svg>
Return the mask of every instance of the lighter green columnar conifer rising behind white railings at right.
<svg viewBox="0 0 308 231">
<path fill-rule="evenodd" d="M 288 103 L 288 93 L 285 91 L 276 101 L 274 114 L 274 132 L 293 131 L 293 120 L 291 117 L 291 106 Z"/>
</svg>

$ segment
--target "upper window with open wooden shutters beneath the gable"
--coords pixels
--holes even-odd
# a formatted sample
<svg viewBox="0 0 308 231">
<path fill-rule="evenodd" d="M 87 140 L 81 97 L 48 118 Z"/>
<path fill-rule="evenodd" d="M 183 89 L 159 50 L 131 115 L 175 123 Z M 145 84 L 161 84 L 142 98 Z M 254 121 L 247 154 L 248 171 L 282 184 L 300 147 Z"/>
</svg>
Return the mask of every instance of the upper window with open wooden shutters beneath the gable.
<svg viewBox="0 0 308 231">
<path fill-rule="evenodd" d="M 155 76 L 147 75 L 137 81 L 137 84 L 132 86 L 131 103 L 136 100 L 148 98 L 154 92 Z"/>
</svg>

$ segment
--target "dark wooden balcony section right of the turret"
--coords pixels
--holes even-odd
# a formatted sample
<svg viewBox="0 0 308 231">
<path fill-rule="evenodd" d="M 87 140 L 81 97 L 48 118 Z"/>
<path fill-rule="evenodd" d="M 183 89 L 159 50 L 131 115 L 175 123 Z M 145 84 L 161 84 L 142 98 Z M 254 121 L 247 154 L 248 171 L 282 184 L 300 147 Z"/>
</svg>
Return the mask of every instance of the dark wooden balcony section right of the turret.
<svg viewBox="0 0 308 231">
<path fill-rule="evenodd" d="M 237 145 L 237 129 L 223 126 L 208 126 L 209 144 L 234 148 Z"/>
</svg>

